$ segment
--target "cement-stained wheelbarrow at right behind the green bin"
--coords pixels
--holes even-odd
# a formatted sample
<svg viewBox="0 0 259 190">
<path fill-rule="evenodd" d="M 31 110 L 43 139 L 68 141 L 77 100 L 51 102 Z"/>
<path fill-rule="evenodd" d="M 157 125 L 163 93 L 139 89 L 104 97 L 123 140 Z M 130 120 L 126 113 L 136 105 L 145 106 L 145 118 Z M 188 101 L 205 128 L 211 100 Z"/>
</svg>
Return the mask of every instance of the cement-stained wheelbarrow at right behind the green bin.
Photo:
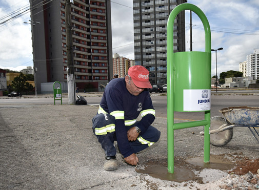
<svg viewBox="0 0 259 190">
<path fill-rule="evenodd" d="M 215 146 L 227 144 L 233 137 L 233 128 L 247 127 L 257 142 L 259 134 L 259 107 L 228 107 L 219 110 L 224 117 L 210 118 L 210 143 Z M 200 133 L 204 135 L 204 131 Z"/>
</svg>

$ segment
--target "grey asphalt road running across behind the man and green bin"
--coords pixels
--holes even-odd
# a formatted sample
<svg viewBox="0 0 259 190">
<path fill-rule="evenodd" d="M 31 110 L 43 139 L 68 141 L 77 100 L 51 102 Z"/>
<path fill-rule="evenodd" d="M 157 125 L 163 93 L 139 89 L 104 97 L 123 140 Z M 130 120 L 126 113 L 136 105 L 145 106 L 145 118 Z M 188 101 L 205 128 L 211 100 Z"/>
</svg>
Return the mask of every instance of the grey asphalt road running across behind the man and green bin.
<svg viewBox="0 0 259 190">
<path fill-rule="evenodd" d="M 167 96 L 151 94 L 156 117 L 167 118 Z M 98 107 L 101 97 L 85 97 L 89 105 Z M 56 100 L 56 104 L 60 104 Z M 68 103 L 68 98 L 63 98 L 63 104 Z M 35 104 L 54 104 L 53 98 L 5 98 L 0 99 L 0 107 L 30 107 Z M 226 107 L 247 106 L 259 107 L 258 95 L 212 95 L 211 96 L 211 117 L 221 116 L 218 112 Z M 175 119 L 202 120 L 204 112 L 175 112 Z"/>
</svg>

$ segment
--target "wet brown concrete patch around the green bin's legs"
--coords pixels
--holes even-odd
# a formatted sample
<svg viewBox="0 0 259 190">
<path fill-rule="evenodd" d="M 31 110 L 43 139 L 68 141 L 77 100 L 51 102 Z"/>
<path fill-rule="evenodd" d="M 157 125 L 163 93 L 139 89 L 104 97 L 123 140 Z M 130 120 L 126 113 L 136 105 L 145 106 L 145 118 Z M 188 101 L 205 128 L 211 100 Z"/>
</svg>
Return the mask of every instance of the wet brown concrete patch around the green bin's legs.
<svg viewBox="0 0 259 190">
<path fill-rule="evenodd" d="M 136 168 L 137 173 L 148 174 L 154 178 L 184 182 L 184 181 L 196 181 L 203 184 L 203 178 L 198 174 L 204 169 L 210 168 L 220 171 L 231 170 L 235 164 L 230 160 L 224 158 L 224 156 L 211 155 L 210 162 L 204 163 L 203 157 L 192 157 L 188 159 L 174 158 L 174 173 L 167 172 L 167 159 L 162 160 L 150 160 L 148 161 L 144 169 Z M 216 172 L 216 171 L 215 171 Z M 210 171 L 211 173 L 211 171 Z"/>
</svg>

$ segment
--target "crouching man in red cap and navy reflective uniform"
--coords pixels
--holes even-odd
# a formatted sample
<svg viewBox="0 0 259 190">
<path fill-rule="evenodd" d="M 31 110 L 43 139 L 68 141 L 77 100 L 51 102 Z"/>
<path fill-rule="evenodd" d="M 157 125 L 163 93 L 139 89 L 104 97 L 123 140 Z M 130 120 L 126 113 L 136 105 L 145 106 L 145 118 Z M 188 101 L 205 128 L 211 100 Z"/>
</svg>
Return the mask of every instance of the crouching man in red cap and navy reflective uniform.
<svg viewBox="0 0 259 190">
<path fill-rule="evenodd" d="M 116 148 L 128 164 L 136 165 L 135 153 L 160 138 L 160 131 L 151 126 L 155 110 L 147 88 L 152 86 L 143 66 L 129 68 L 125 78 L 115 78 L 106 86 L 98 114 L 92 119 L 93 133 L 105 151 L 105 170 L 117 170 Z M 142 119 L 137 121 L 140 114 Z"/>
</svg>

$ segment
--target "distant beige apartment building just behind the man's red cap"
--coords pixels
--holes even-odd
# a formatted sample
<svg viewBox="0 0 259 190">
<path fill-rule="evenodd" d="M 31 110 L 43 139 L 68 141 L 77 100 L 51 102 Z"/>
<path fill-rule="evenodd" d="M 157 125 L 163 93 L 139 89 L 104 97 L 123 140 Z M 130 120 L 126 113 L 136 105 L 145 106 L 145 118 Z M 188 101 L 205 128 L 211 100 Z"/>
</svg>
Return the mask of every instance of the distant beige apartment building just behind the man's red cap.
<svg viewBox="0 0 259 190">
<path fill-rule="evenodd" d="M 129 68 L 134 66 L 134 60 L 113 54 L 113 75 L 118 74 L 118 77 L 124 77 Z"/>
</svg>

